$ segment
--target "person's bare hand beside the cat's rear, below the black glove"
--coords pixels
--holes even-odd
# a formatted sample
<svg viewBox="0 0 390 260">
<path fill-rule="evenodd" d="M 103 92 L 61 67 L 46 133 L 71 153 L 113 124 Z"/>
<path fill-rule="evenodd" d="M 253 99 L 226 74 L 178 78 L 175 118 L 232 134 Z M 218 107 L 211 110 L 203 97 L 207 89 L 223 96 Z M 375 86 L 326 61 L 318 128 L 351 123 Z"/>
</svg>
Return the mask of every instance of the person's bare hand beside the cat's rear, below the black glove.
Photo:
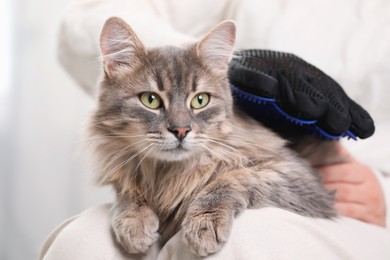
<svg viewBox="0 0 390 260">
<path fill-rule="evenodd" d="M 350 159 L 318 168 L 325 188 L 336 190 L 334 207 L 347 217 L 385 226 L 385 198 L 375 174 L 368 166 L 351 158 L 341 146 L 339 152 Z"/>
</svg>

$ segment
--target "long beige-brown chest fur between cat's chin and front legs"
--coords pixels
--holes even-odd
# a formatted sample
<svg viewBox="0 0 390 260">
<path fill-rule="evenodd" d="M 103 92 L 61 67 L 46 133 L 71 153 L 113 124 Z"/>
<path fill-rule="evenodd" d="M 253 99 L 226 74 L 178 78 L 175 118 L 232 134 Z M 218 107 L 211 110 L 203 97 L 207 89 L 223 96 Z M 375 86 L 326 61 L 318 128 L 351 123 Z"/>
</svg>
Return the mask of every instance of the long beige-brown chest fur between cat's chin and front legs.
<svg viewBox="0 0 390 260">
<path fill-rule="evenodd" d="M 221 171 L 218 164 L 201 158 L 183 162 L 145 160 L 140 166 L 137 189 L 160 221 L 163 240 L 173 236 L 193 198 Z"/>
</svg>

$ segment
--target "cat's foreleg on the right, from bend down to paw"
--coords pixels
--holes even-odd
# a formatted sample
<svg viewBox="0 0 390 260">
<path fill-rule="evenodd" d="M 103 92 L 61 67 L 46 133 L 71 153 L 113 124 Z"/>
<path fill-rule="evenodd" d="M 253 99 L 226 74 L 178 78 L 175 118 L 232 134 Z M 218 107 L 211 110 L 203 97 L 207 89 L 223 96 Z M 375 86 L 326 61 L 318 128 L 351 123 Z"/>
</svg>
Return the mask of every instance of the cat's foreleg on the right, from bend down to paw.
<svg viewBox="0 0 390 260">
<path fill-rule="evenodd" d="M 228 240 L 234 216 L 247 207 L 239 186 L 227 179 L 217 179 L 190 204 L 182 233 L 184 242 L 197 255 L 215 253 Z"/>
</svg>

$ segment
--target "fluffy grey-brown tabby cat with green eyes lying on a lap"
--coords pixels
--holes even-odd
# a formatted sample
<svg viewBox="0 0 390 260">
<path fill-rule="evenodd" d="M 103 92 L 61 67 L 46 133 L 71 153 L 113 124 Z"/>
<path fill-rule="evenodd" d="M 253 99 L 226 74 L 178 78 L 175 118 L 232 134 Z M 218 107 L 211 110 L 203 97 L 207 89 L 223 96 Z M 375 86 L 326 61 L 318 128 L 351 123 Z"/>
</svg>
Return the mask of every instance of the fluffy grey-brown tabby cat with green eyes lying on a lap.
<svg viewBox="0 0 390 260">
<path fill-rule="evenodd" d="M 225 21 L 196 43 L 146 49 L 120 18 L 102 29 L 90 136 L 98 180 L 116 191 L 114 238 L 129 253 L 178 230 L 197 255 L 215 253 L 247 208 L 337 215 L 308 161 L 233 106 L 235 30 Z"/>
</svg>

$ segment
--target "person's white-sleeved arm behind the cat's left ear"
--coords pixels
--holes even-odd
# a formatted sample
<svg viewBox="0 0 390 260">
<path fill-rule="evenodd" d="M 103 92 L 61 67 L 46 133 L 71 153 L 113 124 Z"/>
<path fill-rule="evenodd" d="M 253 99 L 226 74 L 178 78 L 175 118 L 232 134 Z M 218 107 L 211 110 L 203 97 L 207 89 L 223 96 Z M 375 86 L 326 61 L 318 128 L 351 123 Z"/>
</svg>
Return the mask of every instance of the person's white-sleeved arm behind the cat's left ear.
<svg viewBox="0 0 390 260">
<path fill-rule="evenodd" d="M 88 0 L 69 7 L 59 29 L 58 57 L 71 77 L 91 95 L 96 95 L 100 75 L 100 31 L 112 16 L 131 24 L 147 47 L 192 41 L 191 36 L 178 32 L 161 18 L 152 1 Z"/>
</svg>

